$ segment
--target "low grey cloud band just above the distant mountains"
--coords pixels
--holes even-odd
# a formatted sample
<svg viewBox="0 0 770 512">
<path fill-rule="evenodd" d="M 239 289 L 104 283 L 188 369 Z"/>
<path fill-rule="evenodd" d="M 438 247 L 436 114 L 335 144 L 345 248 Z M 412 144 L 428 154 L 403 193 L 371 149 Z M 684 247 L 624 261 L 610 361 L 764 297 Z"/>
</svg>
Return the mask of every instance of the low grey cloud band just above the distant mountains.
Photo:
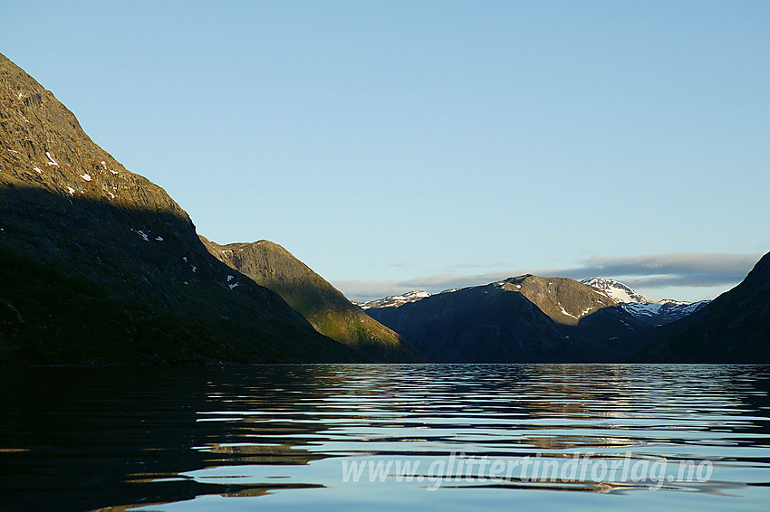
<svg viewBox="0 0 770 512">
<path fill-rule="evenodd" d="M 441 273 L 409 280 L 337 280 L 334 286 L 355 300 L 379 299 L 413 289 L 438 293 L 444 289 L 484 285 L 526 273 L 582 280 L 592 276 L 622 280 L 631 287 L 662 289 L 672 287 L 718 287 L 726 289 L 746 277 L 762 253 L 721 254 L 674 252 L 643 256 L 593 256 L 571 269 L 514 269 L 467 275 Z"/>
</svg>

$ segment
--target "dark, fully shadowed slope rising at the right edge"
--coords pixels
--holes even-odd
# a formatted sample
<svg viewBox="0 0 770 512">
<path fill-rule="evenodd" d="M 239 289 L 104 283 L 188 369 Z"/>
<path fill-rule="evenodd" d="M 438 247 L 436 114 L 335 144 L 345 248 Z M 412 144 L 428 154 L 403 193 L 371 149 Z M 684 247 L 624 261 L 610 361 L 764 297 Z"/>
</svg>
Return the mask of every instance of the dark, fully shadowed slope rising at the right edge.
<svg viewBox="0 0 770 512">
<path fill-rule="evenodd" d="M 635 356 L 676 363 L 770 363 L 770 253 L 736 288 L 662 327 L 667 335 Z"/>
</svg>

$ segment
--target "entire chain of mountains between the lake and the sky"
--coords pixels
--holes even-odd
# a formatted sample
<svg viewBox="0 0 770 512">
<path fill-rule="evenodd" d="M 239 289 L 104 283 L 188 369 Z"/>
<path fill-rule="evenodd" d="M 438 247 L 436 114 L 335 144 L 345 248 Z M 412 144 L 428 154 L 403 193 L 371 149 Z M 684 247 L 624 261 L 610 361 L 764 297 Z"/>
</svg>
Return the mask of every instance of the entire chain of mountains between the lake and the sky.
<svg viewBox="0 0 770 512">
<path fill-rule="evenodd" d="M 219 244 L 0 54 L 0 364 L 770 363 L 770 254 L 712 302 L 523 275 L 353 304 L 268 241 Z"/>
</svg>

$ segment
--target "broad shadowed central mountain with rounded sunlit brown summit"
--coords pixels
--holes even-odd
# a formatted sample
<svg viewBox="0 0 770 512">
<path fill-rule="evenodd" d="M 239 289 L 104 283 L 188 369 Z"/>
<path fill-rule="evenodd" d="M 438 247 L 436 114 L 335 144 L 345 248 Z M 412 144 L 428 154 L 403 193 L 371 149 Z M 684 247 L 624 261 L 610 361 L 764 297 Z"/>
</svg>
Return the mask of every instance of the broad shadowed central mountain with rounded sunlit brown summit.
<svg viewBox="0 0 770 512">
<path fill-rule="evenodd" d="M 601 290 L 576 280 L 519 276 L 367 313 L 440 362 L 612 361 L 643 326 Z"/>
</svg>

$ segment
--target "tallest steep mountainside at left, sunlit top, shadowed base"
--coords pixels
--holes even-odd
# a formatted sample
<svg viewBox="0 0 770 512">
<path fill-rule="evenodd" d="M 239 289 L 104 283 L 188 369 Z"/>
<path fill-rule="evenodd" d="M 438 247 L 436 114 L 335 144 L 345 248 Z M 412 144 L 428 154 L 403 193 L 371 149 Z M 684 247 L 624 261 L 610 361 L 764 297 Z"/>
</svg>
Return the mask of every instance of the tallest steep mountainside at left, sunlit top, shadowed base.
<svg viewBox="0 0 770 512">
<path fill-rule="evenodd" d="M 162 188 L 4 55 L 0 274 L 0 363 L 363 358 L 208 254 Z"/>
</svg>

